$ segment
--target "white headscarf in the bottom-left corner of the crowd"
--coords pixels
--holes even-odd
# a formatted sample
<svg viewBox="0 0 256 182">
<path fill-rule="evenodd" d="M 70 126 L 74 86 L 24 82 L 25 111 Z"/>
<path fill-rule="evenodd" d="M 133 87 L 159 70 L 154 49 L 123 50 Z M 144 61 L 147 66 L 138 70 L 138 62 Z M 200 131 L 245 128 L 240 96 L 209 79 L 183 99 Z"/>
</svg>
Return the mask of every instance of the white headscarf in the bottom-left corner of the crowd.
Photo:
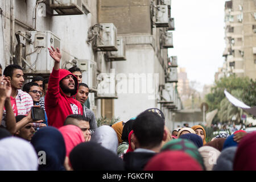
<svg viewBox="0 0 256 182">
<path fill-rule="evenodd" d="M 0 140 L 0 171 L 36 171 L 38 156 L 24 139 L 8 137 Z"/>
</svg>

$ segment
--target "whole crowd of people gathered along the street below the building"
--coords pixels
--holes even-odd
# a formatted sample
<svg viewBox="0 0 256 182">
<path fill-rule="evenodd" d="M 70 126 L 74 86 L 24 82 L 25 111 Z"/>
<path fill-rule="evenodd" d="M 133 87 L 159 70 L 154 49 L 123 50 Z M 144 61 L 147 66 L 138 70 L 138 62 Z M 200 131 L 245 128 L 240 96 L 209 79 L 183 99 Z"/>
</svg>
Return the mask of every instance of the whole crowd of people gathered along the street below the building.
<svg viewBox="0 0 256 182">
<path fill-rule="evenodd" d="M 0 68 L 0 170 L 26 171 L 233 171 L 256 170 L 256 132 L 218 134 L 207 142 L 201 125 L 172 132 L 158 108 L 129 121 L 97 127 L 89 87 L 77 67 L 24 84 L 19 65 Z M 44 111 L 35 119 L 31 108 Z"/>
</svg>

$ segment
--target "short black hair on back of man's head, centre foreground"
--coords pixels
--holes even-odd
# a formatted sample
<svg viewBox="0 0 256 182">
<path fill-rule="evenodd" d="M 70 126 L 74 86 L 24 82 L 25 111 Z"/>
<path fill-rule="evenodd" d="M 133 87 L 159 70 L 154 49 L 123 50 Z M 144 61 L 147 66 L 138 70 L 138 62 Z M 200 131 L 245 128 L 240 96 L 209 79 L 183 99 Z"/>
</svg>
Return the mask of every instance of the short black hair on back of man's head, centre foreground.
<svg viewBox="0 0 256 182">
<path fill-rule="evenodd" d="M 156 113 L 143 112 L 134 120 L 133 131 L 141 147 L 158 147 L 163 140 L 164 119 Z"/>
</svg>

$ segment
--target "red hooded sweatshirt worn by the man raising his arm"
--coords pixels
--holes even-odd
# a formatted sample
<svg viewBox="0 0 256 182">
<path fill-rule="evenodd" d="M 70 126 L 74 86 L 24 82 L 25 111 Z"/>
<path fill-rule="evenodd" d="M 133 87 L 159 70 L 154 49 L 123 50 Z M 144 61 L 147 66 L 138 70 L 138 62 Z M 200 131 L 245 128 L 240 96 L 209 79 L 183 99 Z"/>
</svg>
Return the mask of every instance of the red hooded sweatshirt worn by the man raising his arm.
<svg viewBox="0 0 256 182">
<path fill-rule="evenodd" d="M 78 81 L 75 75 L 75 92 L 71 96 L 67 96 L 60 88 L 60 80 L 68 75 L 73 75 L 66 69 L 52 70 L 49 77 L 48 90 L 45 98 L 46 114 L 48 117 L 48 125 L 59 128 L 63 126 L 65 119 L 70 114 L 81 114 L 82 105 L 73 97 L 76 96 L 78 90 Z"/>
</svg>

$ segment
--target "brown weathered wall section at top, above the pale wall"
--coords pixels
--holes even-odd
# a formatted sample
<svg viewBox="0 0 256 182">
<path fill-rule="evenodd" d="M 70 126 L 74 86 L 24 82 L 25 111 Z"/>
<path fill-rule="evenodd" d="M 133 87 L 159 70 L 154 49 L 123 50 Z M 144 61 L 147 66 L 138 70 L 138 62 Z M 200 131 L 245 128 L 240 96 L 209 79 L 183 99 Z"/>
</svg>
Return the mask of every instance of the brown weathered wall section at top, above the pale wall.
<svg viewBox="0 0 256 182">
<path fill-rule="evenodd" d="M 100 0 L 99 22 L 114 23 L 118 34 L 151 34 L 150 0 Z"/>
</svg>

